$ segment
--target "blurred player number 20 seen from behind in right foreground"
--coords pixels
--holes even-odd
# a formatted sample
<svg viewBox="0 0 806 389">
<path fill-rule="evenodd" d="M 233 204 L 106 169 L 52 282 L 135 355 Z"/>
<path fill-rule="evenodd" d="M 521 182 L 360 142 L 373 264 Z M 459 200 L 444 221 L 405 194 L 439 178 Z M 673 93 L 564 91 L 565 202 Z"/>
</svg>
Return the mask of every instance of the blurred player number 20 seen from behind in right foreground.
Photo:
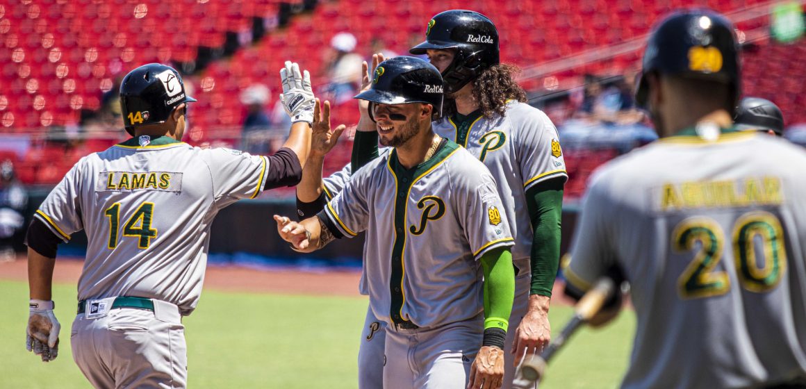
<svg viewBox="0 0 806 389">
<path fill-rule="evenodd" d="M 740 87 L 725 17 L 663 19 L 636 97 L 660 139 L 588 186 L 565 274 L 576 296 L 608 273 L 629 280 L 638 327 L 622 387 L 806 386 L 806 153 L 738 131 Z"/>
</svg>

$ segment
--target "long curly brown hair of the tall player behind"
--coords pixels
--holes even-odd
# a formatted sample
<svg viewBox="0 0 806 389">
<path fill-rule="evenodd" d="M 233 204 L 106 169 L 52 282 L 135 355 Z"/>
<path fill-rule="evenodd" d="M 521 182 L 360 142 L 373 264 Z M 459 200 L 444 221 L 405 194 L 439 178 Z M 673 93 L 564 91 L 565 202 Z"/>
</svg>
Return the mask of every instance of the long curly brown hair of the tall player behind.
<svg viewBox="0 0 806 389">
<path fill-rule="evenodd" d="M 479 102 L 484 118 L 492 118 L 494 114 L 504 116 L 509 100 L 526 102 L 526 91 L 515 82 L 515 76 L 520 72 L 521 68 L 513 64 L 496 64 L 472 81 L 473 99 Z M 442 118 L 450 118 L 453 114 L 456 114 L 456 102 L 446 98 Z"/>
</svg>

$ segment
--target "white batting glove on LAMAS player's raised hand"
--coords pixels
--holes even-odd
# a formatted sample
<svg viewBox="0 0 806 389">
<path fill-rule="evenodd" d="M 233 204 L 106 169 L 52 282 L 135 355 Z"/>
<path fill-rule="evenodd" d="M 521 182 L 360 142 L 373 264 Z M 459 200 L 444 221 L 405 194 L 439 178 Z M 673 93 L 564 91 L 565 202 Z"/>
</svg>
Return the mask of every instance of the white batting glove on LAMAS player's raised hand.
<svg viewBox="0 0 806 389">
<path fill-rule="evenodd" d="M 285 68 L 280 69 L 280 80 L 283 93 L 280 102 L 291 122 L 314 122 L 314 89 L 310 87 L 310 73 L 305 70 L 305 77 L 300 73 L 299 65 L 285 61 Z"/>
</svg>

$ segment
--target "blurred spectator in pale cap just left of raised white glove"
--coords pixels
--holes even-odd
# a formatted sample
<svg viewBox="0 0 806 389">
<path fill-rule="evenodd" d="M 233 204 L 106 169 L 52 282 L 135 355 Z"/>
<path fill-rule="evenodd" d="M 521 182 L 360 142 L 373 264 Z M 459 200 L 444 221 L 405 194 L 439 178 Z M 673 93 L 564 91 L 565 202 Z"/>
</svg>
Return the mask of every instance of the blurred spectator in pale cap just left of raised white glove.
<svg viewBox="0 0 806 389">
<path fill-rule="evenodd" d="M 243 119 L 243 150 L 265 155 L 271 149 L 270 130 L 272 121 L 265 113 L 269 90 L 266 85 L 255 84 L 243 89 L 240 101 L 246 107 L 247 116 Z"/>
</svg>

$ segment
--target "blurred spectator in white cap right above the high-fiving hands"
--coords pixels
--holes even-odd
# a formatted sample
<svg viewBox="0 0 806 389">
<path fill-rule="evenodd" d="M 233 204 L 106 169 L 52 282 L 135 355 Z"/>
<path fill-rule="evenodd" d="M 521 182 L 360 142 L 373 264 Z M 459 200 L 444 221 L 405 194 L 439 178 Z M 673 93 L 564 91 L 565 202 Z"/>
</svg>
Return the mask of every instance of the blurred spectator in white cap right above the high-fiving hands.
<svg viewBox="0 0 806 389">
<path fill-rule="evenodd" d="M 330 39 L 332 50 L 325 69 L 330 80 L 328 89 L 336 104 L 350 101 L 361 83 L 363 59 L 353 52 L 356 43 L 355 36 L 349 32 L 339 32 Z"/>
</svg>

